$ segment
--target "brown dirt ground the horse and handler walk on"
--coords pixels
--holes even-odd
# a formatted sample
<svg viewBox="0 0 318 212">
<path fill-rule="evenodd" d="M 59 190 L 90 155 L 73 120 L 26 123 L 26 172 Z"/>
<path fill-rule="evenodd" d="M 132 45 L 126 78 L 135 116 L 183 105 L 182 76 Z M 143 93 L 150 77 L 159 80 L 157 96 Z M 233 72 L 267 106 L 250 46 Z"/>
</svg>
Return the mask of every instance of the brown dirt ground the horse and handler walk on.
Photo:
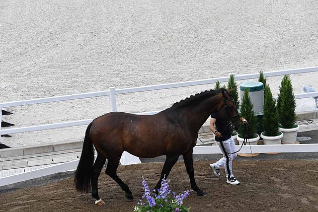
<svg viewBox="0 0 318 212">
<path fill-rule="evenodd" d="M 234 173 L 240 184 L 232 186 L 225 177 L 216 178 L 209 163 L 194 162 L 197 184 L 207 196 L 196 192 L 184 201 L 191 212 L 317 212 L 318 161 L 267 160 L 234 161 Z M 143 194 L 142 176 L 153 188 L 159 179 L 163 163 L 146 163 L 118 168 L 119 177 L 134 194 L 129 202 L 120 187 L 104 173 L 99 178 L 99 194 L 105 205 L 97 207 L 90 194 L 75 191 L 73 177 L 44 186 L 9 191 L 0 194 L 0 212 L 131 212 Z M 224 170 L 221 171 L 224 176 Z M 182 161 L 178 161 L 170 175 L 172 192 L 190 189 Z"/>
</svg>

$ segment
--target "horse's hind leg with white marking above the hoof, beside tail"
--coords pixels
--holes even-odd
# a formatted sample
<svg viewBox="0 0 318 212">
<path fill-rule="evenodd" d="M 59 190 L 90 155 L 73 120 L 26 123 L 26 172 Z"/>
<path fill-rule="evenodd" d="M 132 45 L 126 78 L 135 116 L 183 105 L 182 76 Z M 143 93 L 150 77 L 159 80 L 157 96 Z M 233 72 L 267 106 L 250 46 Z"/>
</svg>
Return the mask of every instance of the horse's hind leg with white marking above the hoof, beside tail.
<svg viewBox="0 0 318 212">
<path fill-rule="evenodd" d="M 96 199 L 95 204 L 96 205 L 103 205 L 105 204 L 98 196 L 98 177 L 100 175 L 100 171 L 103 168 L 103 165 L 105 164 L 106 157 L 104 157 L 102 154 L 97 153 L 97 158 L 94 162 L 93 166 L 93 174 L 91 177 L 91 196 Z"/>
</svg>

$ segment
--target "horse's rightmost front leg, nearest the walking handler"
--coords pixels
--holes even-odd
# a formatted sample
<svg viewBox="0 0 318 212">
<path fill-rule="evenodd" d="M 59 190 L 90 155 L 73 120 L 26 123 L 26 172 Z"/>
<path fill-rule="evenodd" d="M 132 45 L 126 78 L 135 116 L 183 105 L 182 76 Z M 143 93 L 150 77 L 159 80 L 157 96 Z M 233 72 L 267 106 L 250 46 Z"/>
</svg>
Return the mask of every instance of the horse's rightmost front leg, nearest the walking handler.
<svg viewBox="0 0 318 212">
<path fill-rule="evenodd" d="M 191 185 L 191 188 L 197 192 L 198 196 L 205 196 L 206 193 L 202 189 L 199 189 L 199 187 L 195 183 L 192 153 L 193 153 L 193 149 L 191 148 L 189 151 L 187 151 L 186 153 L 182 155 L 185 168 L 190 178 L 190 185 Z"/>
</svg>

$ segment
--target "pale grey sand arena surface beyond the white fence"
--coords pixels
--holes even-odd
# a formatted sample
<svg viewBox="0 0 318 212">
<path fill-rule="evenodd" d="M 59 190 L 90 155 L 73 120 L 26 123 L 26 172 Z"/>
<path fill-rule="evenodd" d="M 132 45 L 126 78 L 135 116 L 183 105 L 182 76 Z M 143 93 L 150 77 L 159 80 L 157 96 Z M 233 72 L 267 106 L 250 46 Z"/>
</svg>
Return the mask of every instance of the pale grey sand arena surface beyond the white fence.
<svg viewBox="0 0 318 212">
<path fill-rule="evenodd" d="M 0 0 L 0 102 L 318 65 L 316 0 Z M 318 90 L 318 73 L 292 75 Z M 274 95 L 281 77 L 268 83 Z M 156 111 L 214 85 L 119 95 Z M 158 101 L 159 99 L 159 101 Z M 92 119 L 108 97 L 6 108 L 15 127 Z M 14 134 L 9 146 L 80 140 L 86 126 Z"/>
</svg>

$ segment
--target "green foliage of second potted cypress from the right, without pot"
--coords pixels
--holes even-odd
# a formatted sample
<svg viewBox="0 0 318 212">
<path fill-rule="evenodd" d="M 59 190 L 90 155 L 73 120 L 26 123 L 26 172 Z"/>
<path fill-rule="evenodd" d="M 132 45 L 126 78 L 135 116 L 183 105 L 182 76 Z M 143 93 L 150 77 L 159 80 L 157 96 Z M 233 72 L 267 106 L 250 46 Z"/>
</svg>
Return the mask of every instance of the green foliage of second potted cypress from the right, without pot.
<svg viewBox="0 0 318 212">
<path fill-rule="evenodd" d="M 276 100 L 273 98 L 272 92 L 268 85 L 264 89 L 264 116 L 263 128 L 266 136 L 278 136 L 279 116 Z"/>
</svg>

